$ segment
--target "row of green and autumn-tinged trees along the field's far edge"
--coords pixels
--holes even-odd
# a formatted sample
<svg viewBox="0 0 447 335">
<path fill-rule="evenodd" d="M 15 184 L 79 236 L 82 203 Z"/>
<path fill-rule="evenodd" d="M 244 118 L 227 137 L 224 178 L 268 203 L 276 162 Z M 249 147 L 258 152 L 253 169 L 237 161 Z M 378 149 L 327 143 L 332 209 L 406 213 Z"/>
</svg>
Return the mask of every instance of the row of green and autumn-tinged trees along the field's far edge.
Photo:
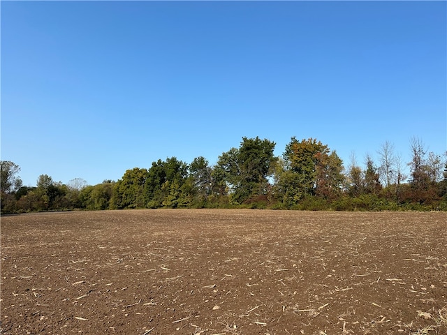
<svg viewBox="0 0 447 335">
<path fill-rule="evenodd" d="M 274 156 L 274 147 L 268 139 L 242 137 L 240 146 L 223 152 L 213 166 L 203 156 L 191 163 L 159 159 L 94 186 L 80 178 L 62 184 L 47 174 L 36 186 L 23 186 L 20 167 L 1 161 L 1 213 L 162 207 L 447 210 L 447 153 L 427 152 L 416 137 L 409 162 L 385 142 L 377 162 L 367 155 L 360 165 L 353 154 L 346 167 L 335 150 L 314 138 L 292 137 L 282 156 Z"/>
</svg>

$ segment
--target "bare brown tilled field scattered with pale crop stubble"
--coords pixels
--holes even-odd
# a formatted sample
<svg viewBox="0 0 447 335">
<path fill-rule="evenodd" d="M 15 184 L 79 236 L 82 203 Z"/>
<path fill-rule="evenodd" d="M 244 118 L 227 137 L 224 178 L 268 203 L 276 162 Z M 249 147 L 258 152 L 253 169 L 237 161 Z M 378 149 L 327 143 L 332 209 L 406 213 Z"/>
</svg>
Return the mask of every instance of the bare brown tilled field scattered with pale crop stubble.
<svg viewBox="0 0 447 335">
<path fill-rule="evenodd" d="M 1 218 L 1 334 L 447 334 L 446 213 Z"/>
</svg>

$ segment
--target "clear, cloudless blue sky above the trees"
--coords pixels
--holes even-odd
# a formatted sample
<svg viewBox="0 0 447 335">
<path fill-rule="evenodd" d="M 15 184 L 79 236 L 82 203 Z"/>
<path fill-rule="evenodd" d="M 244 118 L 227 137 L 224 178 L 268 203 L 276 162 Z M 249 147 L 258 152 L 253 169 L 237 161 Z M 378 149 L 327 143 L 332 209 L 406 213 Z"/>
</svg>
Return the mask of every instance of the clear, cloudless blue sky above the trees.
<svg viewBox="0 0 447 335">
<path fill-rule="evenodd" d="M 446 151 L 446 1 L 1 1 L 1 159 L 24 184 L 211 164 L 242 136 Z"/>
</svg>

